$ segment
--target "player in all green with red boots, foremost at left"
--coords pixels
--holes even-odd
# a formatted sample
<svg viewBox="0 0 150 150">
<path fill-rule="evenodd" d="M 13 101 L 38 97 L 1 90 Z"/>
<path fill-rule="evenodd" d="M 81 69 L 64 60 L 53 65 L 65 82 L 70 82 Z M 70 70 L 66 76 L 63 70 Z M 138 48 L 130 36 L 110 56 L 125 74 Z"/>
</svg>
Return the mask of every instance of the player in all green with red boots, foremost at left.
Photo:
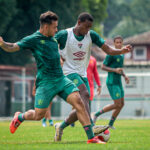
<svg viewBox="0 0 150 150">
<path fill-rule="evenodd" d="M 58 52 L 58 43 L 53 37 L 57 32 L 58 17 L 48 11 L 40 16 L 40 29 L 17 43 L 7 43 L 0 37 L 0 47 L 6 52 L 32 51 L 37 63 L 35 109 L 25 113 L 16 112 L 10 124 L 14 133 L 24 120 L 41 120 L 55 95 L 59 95 L 77 111 L 77 117 L 88 136 L 87 143 L 102 143 L 94 137 L 89 116 L 76 85 L 64 76 Z"/>
</svg>

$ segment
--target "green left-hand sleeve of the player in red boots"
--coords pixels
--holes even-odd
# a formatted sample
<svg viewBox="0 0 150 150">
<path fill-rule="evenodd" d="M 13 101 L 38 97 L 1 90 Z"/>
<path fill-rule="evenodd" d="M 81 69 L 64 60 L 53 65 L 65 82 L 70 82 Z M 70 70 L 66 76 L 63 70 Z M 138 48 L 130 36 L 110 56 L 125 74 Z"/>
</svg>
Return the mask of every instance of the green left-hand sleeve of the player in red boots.
<svg viewBox="0 0 150 150">
<path fill-rule="evenodd" d="M 23 49 L 32 50 L 34 47 L 34 43 L 35 43 L 34 38 L 32 37 L 32 35 L 30 35 L 18 41 L 17 45 L 20 47 L 20 50 L 23 50 Z"/>
</svg>

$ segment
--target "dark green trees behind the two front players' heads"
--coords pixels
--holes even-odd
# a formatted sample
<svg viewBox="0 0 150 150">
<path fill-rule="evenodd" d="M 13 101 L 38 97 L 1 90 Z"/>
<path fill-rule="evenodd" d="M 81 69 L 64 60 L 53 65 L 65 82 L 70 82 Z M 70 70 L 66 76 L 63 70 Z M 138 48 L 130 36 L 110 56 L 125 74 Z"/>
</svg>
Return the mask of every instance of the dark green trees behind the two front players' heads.
<svg viewBox="0 0 150 150">
<path fill-rule="evenodd" d="M 75 25 L 77 16 L 84 11 L 94 18 L 94 27 L 106 17 L 107 0 L 0 0 L 0 35 L 5 41 L 16 42 L 39 29 L 39 16 L 47 10 L 59 16 L 59 29 Z M 93 28 L 94 28 L 93 27 Z M 23 51 L 8 54 L 0 50 L 0 64 L 25 65 L 31 53 Z"/>
</svg>

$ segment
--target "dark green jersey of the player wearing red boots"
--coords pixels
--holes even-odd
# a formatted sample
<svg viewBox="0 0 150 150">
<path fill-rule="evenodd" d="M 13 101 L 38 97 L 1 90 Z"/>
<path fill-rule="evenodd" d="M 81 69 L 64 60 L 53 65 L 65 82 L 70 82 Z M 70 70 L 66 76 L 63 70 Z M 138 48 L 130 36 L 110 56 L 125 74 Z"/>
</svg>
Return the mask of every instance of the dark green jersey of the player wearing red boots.
<svg viewBox="0 0 150 150">
<path fill-rule="evenodd" d="M 17 42 L 20 49 L 29 49 L 37 63 L 37 82 L 57 80 L 63 76 L 58 43 L 54 37 L 46 37 L 39 31 Z"/>
</svg>

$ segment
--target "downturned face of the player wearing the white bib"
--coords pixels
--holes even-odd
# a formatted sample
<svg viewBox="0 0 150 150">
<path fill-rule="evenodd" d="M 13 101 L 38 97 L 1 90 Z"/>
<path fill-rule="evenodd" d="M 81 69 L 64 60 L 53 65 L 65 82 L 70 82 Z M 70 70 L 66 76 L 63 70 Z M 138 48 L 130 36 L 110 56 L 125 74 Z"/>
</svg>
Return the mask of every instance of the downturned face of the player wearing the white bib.
<svg viewBox="0 0 150 150">
<path fill-rule="evenodd" d="M 86 35 L 88 33 L 88 31 L 91 29 L 92 27 L 92 22 L 86 20 L 85 22 L 78 22 L 78 26 L 79 26 L 79 33 L 81 35 Z"/>
</svg>

